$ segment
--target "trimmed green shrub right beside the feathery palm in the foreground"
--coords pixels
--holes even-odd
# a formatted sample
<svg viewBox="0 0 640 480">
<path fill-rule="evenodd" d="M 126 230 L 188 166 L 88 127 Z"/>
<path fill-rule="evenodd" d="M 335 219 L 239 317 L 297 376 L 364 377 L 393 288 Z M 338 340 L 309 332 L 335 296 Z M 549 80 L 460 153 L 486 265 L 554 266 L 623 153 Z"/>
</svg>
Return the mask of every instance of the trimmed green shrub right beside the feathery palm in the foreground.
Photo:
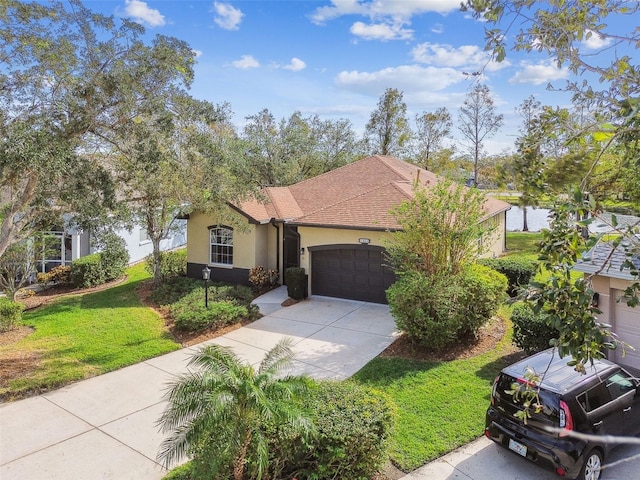
<svg viewBox="0 0 640 480">
<path fill-rule="evenodd" d="M 374 478 L 389 458 L 396 418 L 389 397 L 353 382 L 326 381 L 302 401 L 315 434 L 303 442 L 274 426 L 270 478 Z"/>
</svg>

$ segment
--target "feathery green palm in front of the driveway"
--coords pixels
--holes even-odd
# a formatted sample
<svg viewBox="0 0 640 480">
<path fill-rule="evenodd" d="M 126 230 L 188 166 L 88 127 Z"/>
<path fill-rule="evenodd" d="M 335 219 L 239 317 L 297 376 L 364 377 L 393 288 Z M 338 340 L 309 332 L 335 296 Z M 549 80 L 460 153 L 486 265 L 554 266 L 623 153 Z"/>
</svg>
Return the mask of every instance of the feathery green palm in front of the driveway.
<svg viewBox="0 0 640 480">
<path fill-rule="evenodd" d="M 271 349 L 255 370 L 228 347 L 203 348 L 189 362 L 195 371 L 169 385 L 169 405 L 158 424 L 170 436 L 158 459 L 166 467 L 187 454 L 206 470 L 207 478 L 233 472 L 242 480 L 261 479 L 268 466 L 268 425 L 307 435 L 312 424 L 293 401 L 311 385 L 307 376 L 281 376 L 293 360 L 291 340 Z M 228 478 L 228 477 L 227 477 Z"/>
</svg>

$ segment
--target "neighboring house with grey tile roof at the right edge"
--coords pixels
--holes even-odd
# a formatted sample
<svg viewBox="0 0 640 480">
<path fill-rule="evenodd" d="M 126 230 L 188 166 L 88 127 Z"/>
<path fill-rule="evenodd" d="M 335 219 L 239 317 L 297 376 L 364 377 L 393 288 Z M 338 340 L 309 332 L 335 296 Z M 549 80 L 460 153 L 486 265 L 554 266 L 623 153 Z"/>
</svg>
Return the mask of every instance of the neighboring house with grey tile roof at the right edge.
<svg viewBox="0 0 640 480">
<path fill-rule="evenodd" d="M 622 268 L 627 258 L 623 246 L 614 249 L 610 243 L 600 242 L 576 263 L 574 269 L 592 276 L 598 308 L 602 311 L 598 320 L 611 325 L 611 331 L 619 340 L 635 348 L 626 349 L 624 357 L 621 348 L 615 349 L 609 352 L 609 359 L 640 369 L 640 308 L 629 307 L 624 295 L 627 287 L 638 279 L 628 268 Z M 638 256 L 631 258 L 636 268 L 640 268 Z"/>
</svg>

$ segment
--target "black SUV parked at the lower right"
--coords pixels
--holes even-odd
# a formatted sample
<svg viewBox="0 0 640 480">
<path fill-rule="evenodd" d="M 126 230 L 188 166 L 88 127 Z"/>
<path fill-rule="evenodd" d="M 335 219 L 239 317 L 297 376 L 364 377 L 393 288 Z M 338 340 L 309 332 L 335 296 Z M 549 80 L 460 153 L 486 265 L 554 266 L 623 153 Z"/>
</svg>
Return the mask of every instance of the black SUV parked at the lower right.
<svg viewBox="0 0 640 480">
<path fill-rule="evenodd" d="M 603 459 L 616 446 L 603 436 L 640 433 L 640 384 L 607 360 L 587 365 L 586 375 L 568 366 L 570 360 L 549 349 L 503 369 L 493 384 L 485 435 L 560 476 L 597 480 Z M 539 384 L 527 369 L 539 375 Z M 514 385 L 527 383 L 539 387 L 542 409 L 531 411 L 525 423 L 515 415 L 524 410 L 524 399 L 513 392 Z"/>
</svg>

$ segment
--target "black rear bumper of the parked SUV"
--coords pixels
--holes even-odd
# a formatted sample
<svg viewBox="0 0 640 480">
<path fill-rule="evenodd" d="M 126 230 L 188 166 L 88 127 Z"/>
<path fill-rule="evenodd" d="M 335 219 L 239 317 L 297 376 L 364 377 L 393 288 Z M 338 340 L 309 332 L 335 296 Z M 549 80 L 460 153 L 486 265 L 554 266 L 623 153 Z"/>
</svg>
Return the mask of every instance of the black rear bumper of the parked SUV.
<svg viewBox="0 0 640 480">
<path fill-rule="evenodd" d="M 582 458 L 579 452 L 575 451 L 563 451 L 558 448 L 559 443 L 555 438 L 549 437 L 549 440 L 553 442 L 545 442 L 544 438 L 536 439 L 530 436 L 525 436 L 509 429 L 503 422 L 500 422 L 501 415 L 489 408 L 487 411 L 485 435 L 487 438 L 493 440 L 498 445 L 509 449 L 509 441 L 514 440 L 526 447 L 526 456 L 513 452 L 516 455 L 520 455 L 523 458 L 535 463 L 536 465 L 551 470 L 557 473 L 557 468 L 562 468 L 565 471 L 564 478 L 573 479 L 578 476 L 580 469 L 582 468 Z M 498 420 L 498 421 L 496 421 Z"/>
</svg>

